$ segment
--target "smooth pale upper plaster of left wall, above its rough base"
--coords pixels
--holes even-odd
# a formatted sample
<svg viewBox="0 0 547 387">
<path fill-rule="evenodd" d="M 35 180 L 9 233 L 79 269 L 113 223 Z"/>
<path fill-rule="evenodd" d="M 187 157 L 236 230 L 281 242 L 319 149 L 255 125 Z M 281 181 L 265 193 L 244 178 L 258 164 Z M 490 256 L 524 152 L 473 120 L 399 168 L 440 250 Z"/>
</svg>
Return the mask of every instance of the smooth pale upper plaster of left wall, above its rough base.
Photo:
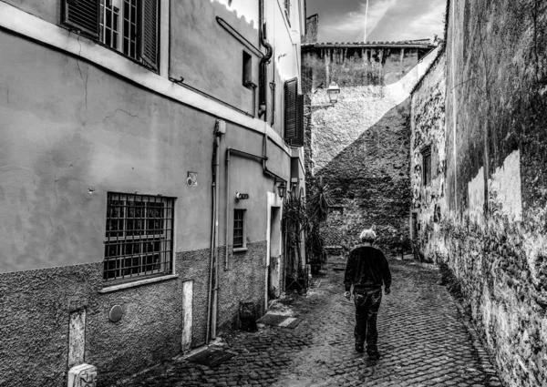
<svg viewBox="0 0 547 387">
<path fill-rule="evenodd" d="M 3 32 L 0 45 L 0 111 L 7 117 L 0 271 L 101 261 L 111 190 L 183 199 L 176 205 L 176 248 L 208 246 L 214 117 L 19 37 Z M 230 123 L 227 131 L 222 156 L 229 146 L 262 154 L 260 134 Z M 288 178 L 284 150 L 270 142 L 268 156 Z M 262 224 L 262 195 L 274 189 L 272 179 L 253 160 L 234 158 L 232 166 L 232 188 L 251 194 L 250 221 Z M 186 185 L 187 171 L 198 172 L 198 187 Z M 251 181 L 254 175 L 261 178 Z M 264 240 L 265 227 L 249 228 L 249 238 Z"/>
</svg>

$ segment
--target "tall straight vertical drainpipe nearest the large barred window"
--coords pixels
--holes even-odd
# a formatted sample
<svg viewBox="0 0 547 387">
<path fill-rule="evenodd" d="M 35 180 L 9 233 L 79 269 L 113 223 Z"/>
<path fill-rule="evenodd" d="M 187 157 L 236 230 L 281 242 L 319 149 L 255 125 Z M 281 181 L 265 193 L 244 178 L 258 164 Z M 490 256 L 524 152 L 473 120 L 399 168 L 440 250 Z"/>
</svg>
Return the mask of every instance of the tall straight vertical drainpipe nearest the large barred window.
<svg viewBox="0 0 547 387">
<path fill-rule="evenodd" d="M 218 241 L 219 241 L 219 169 L 221 161 L 220 143 L 223 129 L 217 123 L 214 130 L 214 143 L 212 150 L 212 224 L 211 224 L 211 257 L 209 270 L 209 292 L 207 294 L 207 337 L 205 342 L 209 343 L 210 337 L 216 339 L 216 321 L 218 304 Z M 210 334 L 211 333 L 211 334 Z"/>
</svg>

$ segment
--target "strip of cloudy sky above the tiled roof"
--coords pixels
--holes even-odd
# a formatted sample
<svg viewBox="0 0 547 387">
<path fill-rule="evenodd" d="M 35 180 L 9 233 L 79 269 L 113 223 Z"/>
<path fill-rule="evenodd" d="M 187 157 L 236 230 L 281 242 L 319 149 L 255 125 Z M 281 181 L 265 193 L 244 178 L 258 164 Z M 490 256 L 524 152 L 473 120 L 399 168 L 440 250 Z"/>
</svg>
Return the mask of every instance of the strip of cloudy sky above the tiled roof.
<svg viewBox="0 0 547 387">
<path fill-rule="evenodd" d="M 318 42 L 365 41 L 366 0 L 307 0 L 319 14 Z M 366 41 L 442 37 L 446 0 L 368 0 Z"/>
</svg>

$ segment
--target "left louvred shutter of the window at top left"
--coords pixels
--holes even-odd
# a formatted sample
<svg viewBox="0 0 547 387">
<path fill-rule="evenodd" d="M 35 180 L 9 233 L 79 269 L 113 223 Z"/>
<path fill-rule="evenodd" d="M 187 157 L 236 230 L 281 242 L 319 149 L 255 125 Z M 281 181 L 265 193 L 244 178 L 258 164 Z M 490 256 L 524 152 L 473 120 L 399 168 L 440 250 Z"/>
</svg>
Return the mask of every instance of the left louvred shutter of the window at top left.
<svg viewBox="0 0 547 387">
<path fill-rule="evenodd" d="M 63 24 L 86 35 L 98 37 L 98 1 L 65 0 L 63 2 Z"/>
</svg>

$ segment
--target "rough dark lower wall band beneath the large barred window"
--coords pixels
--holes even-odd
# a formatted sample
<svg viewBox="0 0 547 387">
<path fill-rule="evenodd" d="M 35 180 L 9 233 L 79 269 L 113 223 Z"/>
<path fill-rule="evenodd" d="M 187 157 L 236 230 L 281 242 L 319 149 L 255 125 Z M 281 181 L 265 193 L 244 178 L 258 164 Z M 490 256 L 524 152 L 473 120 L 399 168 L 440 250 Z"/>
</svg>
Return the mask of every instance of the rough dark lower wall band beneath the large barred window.
<svg viewBox="0 0 547 387">
<path fill-rule="evenodd" d="M 69 315 L 82 308 L 84 359 L 98 367 L 101 385 L 181 350 L 181 280 L 100 294 L 102 266 L 0 274 L 0 385 L 66 385 Z M 119 322 L 108 320 L 114 305 L 123 310 Z"/>
</svg>

